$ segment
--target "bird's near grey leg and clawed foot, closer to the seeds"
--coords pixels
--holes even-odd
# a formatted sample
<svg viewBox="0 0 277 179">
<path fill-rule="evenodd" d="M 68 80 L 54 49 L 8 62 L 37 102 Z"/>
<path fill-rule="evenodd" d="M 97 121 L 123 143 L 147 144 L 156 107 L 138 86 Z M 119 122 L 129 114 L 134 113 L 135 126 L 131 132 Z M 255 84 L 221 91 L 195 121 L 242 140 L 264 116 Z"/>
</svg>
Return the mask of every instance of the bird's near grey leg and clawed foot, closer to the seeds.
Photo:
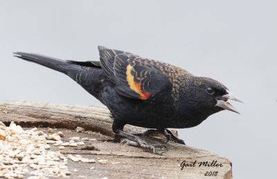
<svg viewBox="0 0 277 179">
<path fill-rule="evenodd" d="M 153 151 L 153 153 L 157 153 L 159 155 L 163 155 L 163 153 L 165 153 L 166 155 L 168 154 L 166 152 L 168 149 L 163 144 L 149 144 L 139 136 L 133 135 L 131 133 L 127 133 L 122 130 L 118 130 L 116 134 L 125 137 L 125 139 L 121 141 L 121 144 L 126 143 L 127 145 L 130 145 L 130 146 L 142 147 L 144 149 Z M 161 150 L 158 150 L 156 148 L 161 148 Z M 166 150 L 163 150 L 163 149 L 166 149 Z"/>
</svg>

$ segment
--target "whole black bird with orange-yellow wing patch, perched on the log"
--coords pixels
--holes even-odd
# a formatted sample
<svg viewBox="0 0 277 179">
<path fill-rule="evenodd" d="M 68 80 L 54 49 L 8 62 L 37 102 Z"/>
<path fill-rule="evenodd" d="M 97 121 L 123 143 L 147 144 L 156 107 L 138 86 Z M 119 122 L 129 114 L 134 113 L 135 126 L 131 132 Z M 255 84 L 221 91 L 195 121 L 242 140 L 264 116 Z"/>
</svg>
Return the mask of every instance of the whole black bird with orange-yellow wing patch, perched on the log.
<svg viewBox="0 0 277 179">
<path fill-rule="evenodd" d="M 239 101 L 226 86 L 208 77 L 139 57 L 132 53 L 98 46 L 100 62 L 75 62 L 31 53 L 15 57 L 60 71 L 105 104 L 114 119 L 112 130 L 132 146 L 163 154 L 162 144 L 149 144 L 138 135 L 123 131 L 125 124 L 159 131 L 168 140 L 185 144 L 168 128 L 197 126 L 209 115 L 224 109 L 238 113 L 227 100 Z M 157 130 L 155 130 L 157 129 Z M 160 149 L 156 149 L 160 148 Z"/>
</svg>

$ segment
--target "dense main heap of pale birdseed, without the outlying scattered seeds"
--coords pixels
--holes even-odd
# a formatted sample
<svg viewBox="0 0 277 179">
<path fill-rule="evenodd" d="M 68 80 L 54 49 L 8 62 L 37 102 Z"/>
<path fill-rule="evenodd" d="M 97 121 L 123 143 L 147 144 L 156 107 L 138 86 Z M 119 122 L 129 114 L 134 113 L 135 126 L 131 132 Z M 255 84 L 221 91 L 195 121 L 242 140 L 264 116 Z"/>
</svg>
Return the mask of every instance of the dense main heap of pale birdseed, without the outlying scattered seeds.
<svg viewBox="0 0 277 179">
<path fill-rule="evenodd" d="M 30 178 L 69 175 L 67 158 L 60 152 L 47 151 L 50 145 L 46 138 L 37 128 L 24 131 L 14 122 L 10 126 L 0 122 L 0 177 L 23 178 L 26 173 Z"/>
</svg>

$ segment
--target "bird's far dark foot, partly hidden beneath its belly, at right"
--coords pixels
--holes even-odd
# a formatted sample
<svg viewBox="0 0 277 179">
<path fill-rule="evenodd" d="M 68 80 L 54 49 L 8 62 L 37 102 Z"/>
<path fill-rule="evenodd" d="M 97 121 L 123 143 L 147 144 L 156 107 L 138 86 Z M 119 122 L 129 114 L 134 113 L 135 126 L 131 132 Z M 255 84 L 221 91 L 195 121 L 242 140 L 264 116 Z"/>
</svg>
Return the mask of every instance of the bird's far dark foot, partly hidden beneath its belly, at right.
<svg viewBox="0 0 277 179">
<path fill-rule="evenodd" d="M 172 133 L 172 131 L 168 129 L 149 129 L 148 131 L 145 131 L 145 133 L 143 133 L 143 136 L 157 135 L 157 133 L 161 133 L 166 136 L 166 143 L 168 143 L 168 141 L 171 139 L 179 144 L 185 144 L 184 140 L 177 138 L 176 135 L 174 135 L 174 133 Z"/>
</svg>

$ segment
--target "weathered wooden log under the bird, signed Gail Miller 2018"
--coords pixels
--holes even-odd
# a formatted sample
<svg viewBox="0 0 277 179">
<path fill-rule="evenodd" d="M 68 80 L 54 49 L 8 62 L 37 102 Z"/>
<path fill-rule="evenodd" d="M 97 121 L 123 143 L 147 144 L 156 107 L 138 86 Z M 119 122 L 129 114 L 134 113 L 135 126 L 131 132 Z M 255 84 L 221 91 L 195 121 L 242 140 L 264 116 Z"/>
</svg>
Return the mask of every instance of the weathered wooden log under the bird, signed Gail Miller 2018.
<svg viewBox="0 0 277 179">
<path fill-rule="evenodd" d="M 4 102 L 0 104 L 0 121 L 9 124 L 14 121 L 23 127 L 52 127 L 75 129 L 81 126 L 93 134 L 93 150 L 66 149 L 64 154 L 76 153 L 89 158 L 105 158 L 108 164 L 71 163 L 69 168 L 78 168 L 87 178 L 232 178 L 231 162 L 215 153 L 193 147 L 168 142 L 168 156 L 159 156 L 137 147 L 120 145 L 113 140 L 112 120 L 106 107 L 51 104 L 42 102 Z M 125 131 L 143 133 L 145 129 L 136 126 L 125 126 Z M 66 132 L 65 132 L 66 133 Z M 67 134 L 80 135 L 89 133 Z M 92 135 L 92 134 L 91 134 Z M 164 138 L 145 138 L 151 143 L 166 142 Z M 51 147 L 51 150 L 57 150 Z M 119 162 L 119 163 L 118 163 Z M 184 169 L 181 170 L 181 165 Z M 75 176 L 71 176 L 74 178 Z"/>
</svg>

